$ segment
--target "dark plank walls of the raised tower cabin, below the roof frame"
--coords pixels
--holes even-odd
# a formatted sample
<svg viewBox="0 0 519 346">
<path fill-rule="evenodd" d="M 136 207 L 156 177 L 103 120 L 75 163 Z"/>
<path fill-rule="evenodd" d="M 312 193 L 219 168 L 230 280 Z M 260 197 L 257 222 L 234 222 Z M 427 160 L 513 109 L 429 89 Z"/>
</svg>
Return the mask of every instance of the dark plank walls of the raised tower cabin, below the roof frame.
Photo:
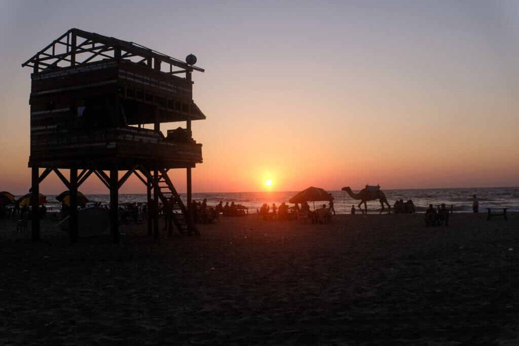
<svg viewBox="0 0 519 346">
<path fill-rule="evenodd" d="M 81 158 L 90 164 L 106 158 L 179 162 L 189 167 L 202 162 L 201 144 L 171 142 L 154 130 L 121 126 L 122 120 L 116 119 L 121 84 L 139 85 L 144 95 L 153 95 L 148 111 L 157 106 L 157 95 L 182 100 L 182 111 L 188 111 L 184 104 L 188 107 L 187 102 L 192 102 L 190 81 L 133 63 L 108 60 L 35 73 L 30 160 L 40 167 L 45 167 L 44 162 Z M 81 117 L 78 107 L 86 107 Z"/>
</svg>

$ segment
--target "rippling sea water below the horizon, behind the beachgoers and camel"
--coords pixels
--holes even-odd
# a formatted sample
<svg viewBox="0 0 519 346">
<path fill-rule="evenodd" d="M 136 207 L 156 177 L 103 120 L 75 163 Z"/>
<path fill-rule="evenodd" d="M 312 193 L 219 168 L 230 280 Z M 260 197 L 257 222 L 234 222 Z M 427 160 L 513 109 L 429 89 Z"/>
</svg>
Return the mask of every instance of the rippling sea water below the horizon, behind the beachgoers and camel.
<svg viewBox="0 0 519 346">
<path fill-rule="evenodd" d="M 423 212 L 430 203 L 432 204 L 454 204 L 455 212 L 472 212 L 472 195 L 475 193 L 480 200 L 480 212 L 486 212 L 485 207 L 509 206 L 509 211 L 519 211 L 519 187 L 488 187 L 488 188 L 450 188 L 450 189 L 399 189 L 385 190 L 386 198 L 391 205 L 391 209 L 395 200 L 403 199 L 407 201 L 413 200 L 417 212 Z M 255 213 L 263 203 L 272 205 L 280 205 L 281 202 L 287 204 L 298 191 L 285 192 L 211 192 L 211 193 L 193 193 L 193 199 L 202 201 L 207 198 L 207 204 L 214 206 L 220 201 L 235 202 L 249 207 L 250 213 Z M 345 191 L 328 191 L 334 197 L 335 211 L 339 214 L 350 213 L 351 205 L 354 204 L 356 209 L 359 200 L 354 200 L 348 196 Z M 359 192 L 359 190 L 353 190 Z M 85 195 L 90 201 L 108 204 L 110 195 Z M 17 196 L 17 198 L 20 196 Z M 186 201 L 186 194 L 181 193 L 181 197 Z M 119 195 L 119 203 L 146 202 L 145 193 L 121 194 Z M 324 202 L 315 202 L 316 207 Z M 327 203 L 327 202 L 326 202 Z M 313 207 L 312 202 L 309 202 Z M 47 196 L 47 207 L 50 210 L 60 209 L 61 203 L 56 200 L 56 196 Z M 293 205 L 293 204 L 289 204 Z M 377 201 L 367 202 L 368 213 L 378 213 L 380 211 L 380 203 Z M 386 211 L 385 211 L 386 212 Z"/>
</svg>

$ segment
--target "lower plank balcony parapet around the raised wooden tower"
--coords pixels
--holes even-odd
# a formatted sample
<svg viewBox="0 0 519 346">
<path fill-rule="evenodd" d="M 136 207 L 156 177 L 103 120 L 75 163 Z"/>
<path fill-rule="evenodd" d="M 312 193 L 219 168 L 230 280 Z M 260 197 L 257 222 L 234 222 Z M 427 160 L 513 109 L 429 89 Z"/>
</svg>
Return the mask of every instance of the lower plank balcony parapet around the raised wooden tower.
<svg viewBox="0 0 519 346">
<path fill-rule="evenodd" d="M 131 126 L 74 130 L 31 128 L 29 167 L 132 169 L 136 162 L 157 168 L 189 168 L 202 162 L 202 144 L 181 129 L 162 132 Z M 184 135 L 183 135 L 184 134 Z"/>
</svg>

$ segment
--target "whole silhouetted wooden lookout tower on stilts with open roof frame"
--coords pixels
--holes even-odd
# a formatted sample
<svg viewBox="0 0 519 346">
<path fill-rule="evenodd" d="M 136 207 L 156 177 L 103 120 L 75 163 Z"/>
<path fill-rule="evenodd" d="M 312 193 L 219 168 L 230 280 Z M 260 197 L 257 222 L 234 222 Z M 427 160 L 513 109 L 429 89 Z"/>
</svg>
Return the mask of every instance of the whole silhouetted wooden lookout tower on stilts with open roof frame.
<svg viewBox="0 0 519 346">
<path fill-rule="evenodd" d="M 133 42 L 71 29 L 22 64 L 34 69 L 29 102 L 32 192 L 38 195 L 39 183 L 52 171 L 71 190 L 73 242 L 78 237 L 77 188 L 92 173 L 110 190 L 115 243 L 118 189 L 132 174 L 146 186 L 154 211 L 153 232 L 148 218 L 150 235 L 159 236 L 159 199 L 181 233 L 199 234 L 189 201 L 191 170 L 202 162 L 202 145 L 192 138 L 191 121 L 206 116 L 193 102 L 192 73 L 204 71 L 195 63 L 192 54 L 183 62 Z M 160 123 L 176 121 L 185 121 L 185 128 L 163 135 Z M 152 123 L 153 130 L 144 128 Z M 186 169 L 187 206 L 168 176 L 168 170 L 179 168 Z M 60 171 L 65 169 L 69 179 Z M 126 172 L 119 177 L 119 171 Z M 32 238 L 38 240 L 37 198 L 32 209 Z"/>
</svg>

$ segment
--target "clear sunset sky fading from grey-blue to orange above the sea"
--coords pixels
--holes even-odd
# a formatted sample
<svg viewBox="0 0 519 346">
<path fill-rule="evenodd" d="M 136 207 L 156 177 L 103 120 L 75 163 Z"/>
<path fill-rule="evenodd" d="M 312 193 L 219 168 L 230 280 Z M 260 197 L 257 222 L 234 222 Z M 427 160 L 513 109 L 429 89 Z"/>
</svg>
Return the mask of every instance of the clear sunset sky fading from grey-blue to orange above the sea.
<svg viewBox="0 0 519 346">
<path fill-rule="evenodd" d="M 0 190 L 30 187 L 21 63 L 72 27 L 198 57 L 194 192 L 519 185 L 517 1 L 18 0 L 0 1 Z"/>
</svg>

